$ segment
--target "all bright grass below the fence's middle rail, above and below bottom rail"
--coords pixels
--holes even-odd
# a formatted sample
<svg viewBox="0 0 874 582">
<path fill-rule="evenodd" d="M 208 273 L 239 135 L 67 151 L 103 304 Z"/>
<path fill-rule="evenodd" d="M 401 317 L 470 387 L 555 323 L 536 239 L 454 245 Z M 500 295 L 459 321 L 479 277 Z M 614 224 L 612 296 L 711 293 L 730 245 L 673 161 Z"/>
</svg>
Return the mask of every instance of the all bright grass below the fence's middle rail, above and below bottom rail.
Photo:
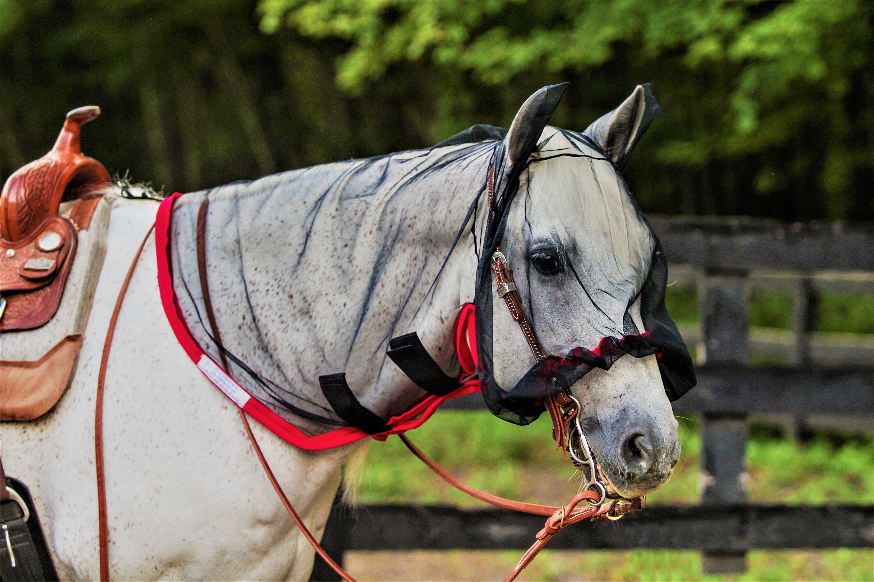
<svg viewBox="0 0 874 582">
<path fill-rule="evenodd" d="M 550 428 L 546 415 L 517 427 L 487 411 L 441 411 L 408 435 L 427 455 L 477 488 L 555 504 L 566 501 L 577 485 L 570 463 L 553 452 Z M 695 419 L 680 419 L 680 440 L 683 454 L 674 476 L 648 496 L 648 503 L 698 503 L 701 441 Z M 753 503 L 874 503 L 870 436 L 841 445 L 825 437 L 799 444 L 753 430 L 746 458 Z M 440 481 L 397 437 L 371 444 L 361 496 L 364 503 L 482 506 Z M 488 552 L 488 559 L 510 567 L 518 555 Z M 444 558 L 469 556 L 447 552 Z M 748 564 L 749 570 L 735 577 L 703 576 L 697 551 L 545 551 L 521 579 L 874 580 L 871 550 L 751 551 Z"/>
</svg>

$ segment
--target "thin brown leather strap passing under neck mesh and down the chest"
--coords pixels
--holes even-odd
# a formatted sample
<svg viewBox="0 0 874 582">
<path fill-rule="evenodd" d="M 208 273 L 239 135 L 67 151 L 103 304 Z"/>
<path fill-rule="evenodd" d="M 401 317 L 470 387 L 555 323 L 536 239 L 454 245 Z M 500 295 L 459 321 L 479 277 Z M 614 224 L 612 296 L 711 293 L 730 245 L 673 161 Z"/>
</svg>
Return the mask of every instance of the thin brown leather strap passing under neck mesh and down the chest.
<svg viewBox="0 0 874 582">
<path fill-rule="evenodd" d="M 212 337 L 215 339 L 218 346 L 218 354 L 221 357 L 222 366 L 224 366 L 226 373 L 230 373 L 227 366 L 227 360 L 225 359 L 225 352 L 221 345 L 221 334 L 218 332 L 215 313 L 212 311 L 209 281 L 206 276 L 206 214 L 209 209 L 209 203 L 209 198 L 205 198 L 204 202 L 200 205 L 200 209 L 198 209 L 198 275 L 200 277 L 200 290 L 204 295 L 206 319 L 210 323 Z M 267 479 L 270 481 L 270 484 L 273 485 L 276 495 L 279 496 L 282 505 L 288 511 L 288 515 L 291 516 L 295 525 L 297 525 L 297 528 L 303 534 L 303 537 L 307 538 L 307 541 L 313 546 L 316 553 L 321 556 L 331 569 L 339 574 L 342 579 L 346 580 L 346 582 L 357 582 L 357 580 L 352 578 L 342 567 L 340 567 L 340 565 L 337 565 L 337 563 L 328 555 L 327 551 L 324 551 L 323 547 L 318 543 L 318 540 L 316 540 L 316 537 L 309 531 L 309 528 L 303 523 L 301 517 L 297 515 L 294 506 L 288 501 L 288 496 L 285 495 L 285 491 L 282 490 L 281 485 L 276 480 L 273 469 L 270 469 L 270 464 L 267 462 L 267 458 L 264 456 L 258 441 L 255 439 L 255 435 L 252 432 L 252 426 L 249 424 L 249 419 L 246 418 L 246 413 L 243 412 L 242 408 L 237 408 L 237 412 L 239 413 L 239 420 L 243 422 L 243 428 L 246 429 L 246 435 L 249 437 L 249 442 L 252 443 L 252 448 L 255 450 L 255 455 L 258 455 L 261 467 L 264 469 L 264 473 L 267 474 Z"/>
</svg>

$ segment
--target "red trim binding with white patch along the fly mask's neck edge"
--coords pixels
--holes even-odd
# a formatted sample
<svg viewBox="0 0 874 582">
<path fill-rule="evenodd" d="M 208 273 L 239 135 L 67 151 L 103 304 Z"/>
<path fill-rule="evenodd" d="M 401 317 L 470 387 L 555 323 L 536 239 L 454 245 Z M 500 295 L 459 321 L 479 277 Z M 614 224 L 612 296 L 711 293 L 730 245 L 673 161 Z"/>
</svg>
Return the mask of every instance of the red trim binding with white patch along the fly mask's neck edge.
<svg viewBox="0 0 874 582">
<path fill-rule="evenodd" d="M 295 447 L 305 450 L 324 450 L 360 441 L 370 436 L 352 427 L 334 428 L 323 435 L 305 435 L 299 428 L 283 419 L 279 414 L 274 413 L 273 410 L 254 398 L 252 394 L 246 392 L 243 387 L 204 353 L 185 323 L 176 292 L 173 290 L 173 277 L 170 270 L 170 216 L 173 212 L 173 203 L 181 195 L 177 192 L 164 198 L 158 207 L 155 220 L 155 245 L 161 305 L 163 305 L 164 314 L 170 322 L 170 328 L 172 328 L 173 333 L 176 335 L 179 345 L 183 347 L 191 361 L 198 366 L 198 369 L 225 396 L 242 408 L 246 414 L 259 421 L 274 435 L 279 436 L 285 442 L 290 442 Z M 472 304 L 462 305 L 458 317 L 455 318 L 452 339 L 455 353 L 458 354 L 458 360 L 461 363 L 460 379 L 468 380 L 460 388 L 446 396 L 423 395 L 407 407 L 406 410 L 392 416 L 386 422 L 391 427 L 391 430 L 379 435 L 373 435 L 373 438 L 385 441 L 388 435 L 398 435 L 407 430 L 418 428 L 431 418 L 437 407 L 444 401 L 480 391 L 480 380 L 472 378 L 476 371 L 476 331 L 474 306 Z"/>
</svg>

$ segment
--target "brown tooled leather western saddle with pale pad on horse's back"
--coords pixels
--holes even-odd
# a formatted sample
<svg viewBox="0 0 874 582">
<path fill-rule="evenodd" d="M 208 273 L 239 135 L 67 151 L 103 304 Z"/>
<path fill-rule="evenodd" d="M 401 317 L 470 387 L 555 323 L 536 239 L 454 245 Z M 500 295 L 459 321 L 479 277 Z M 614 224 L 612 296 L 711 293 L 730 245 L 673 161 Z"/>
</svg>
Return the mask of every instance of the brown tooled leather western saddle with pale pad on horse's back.
<svg viewBox="0 0 874 582">
<path fill-rule="evenodd" d="M 55 147 L 20 168 L 0 197 L 0 420 L 48 412 L 72 379 L 107 250 L 109 175 L 82 155 L 81 123 L 67 113 Z M 62 202 L 64 199 L 67 202 Z"/>
</svg>

